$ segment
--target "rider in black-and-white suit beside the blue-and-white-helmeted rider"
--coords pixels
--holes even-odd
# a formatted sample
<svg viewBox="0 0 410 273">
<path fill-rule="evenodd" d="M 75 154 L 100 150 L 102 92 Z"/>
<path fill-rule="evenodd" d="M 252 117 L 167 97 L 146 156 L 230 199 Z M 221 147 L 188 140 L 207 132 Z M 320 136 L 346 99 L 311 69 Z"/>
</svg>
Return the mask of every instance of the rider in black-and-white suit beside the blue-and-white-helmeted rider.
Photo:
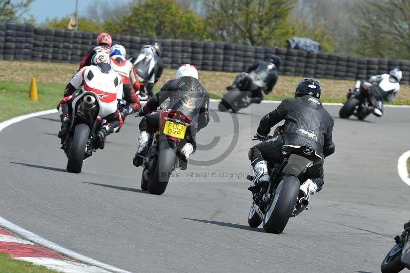
<svg viewBox="0 0 410 273">
<path fill-rule="evenodd" d="M 154 84 L 158 82 L 163 71 L 161 53 L 161 45 L 159 43 L 153 43 L 152 45 L 142 46 L 140 53 L 134 54 L 130 59 L 135 67 L 138 67 L 139 65 L 148 66 L 144 71 L 137 71 L 139 76 L 144 77 L 145 80 L 148 81 L 145 86 L 147 93 L 143 93 L 142 90 L 140 91 L 139 95 L 141 99 L 148 99 L 154 95 L 152 89 L 154 88 Z M 143 65 L 146 61 L 148 61 L 148 63 Z"/>
</svg>

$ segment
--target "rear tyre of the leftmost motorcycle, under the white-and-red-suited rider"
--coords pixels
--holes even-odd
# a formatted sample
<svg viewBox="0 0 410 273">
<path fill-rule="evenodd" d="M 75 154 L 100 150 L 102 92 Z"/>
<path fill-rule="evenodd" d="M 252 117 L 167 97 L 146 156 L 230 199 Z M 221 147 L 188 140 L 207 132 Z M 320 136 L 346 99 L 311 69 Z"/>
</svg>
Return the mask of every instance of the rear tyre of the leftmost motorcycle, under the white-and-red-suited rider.
<svg viewBox="0 0 410 273">
<path fill-rule="evenodd" d="M 71 148 L 68 154 L 67 171 L 79 173 L 83 167 L 86 145 L 90 136 L 90 127 L 86 124 L 75 126 Z"/>
</svg>

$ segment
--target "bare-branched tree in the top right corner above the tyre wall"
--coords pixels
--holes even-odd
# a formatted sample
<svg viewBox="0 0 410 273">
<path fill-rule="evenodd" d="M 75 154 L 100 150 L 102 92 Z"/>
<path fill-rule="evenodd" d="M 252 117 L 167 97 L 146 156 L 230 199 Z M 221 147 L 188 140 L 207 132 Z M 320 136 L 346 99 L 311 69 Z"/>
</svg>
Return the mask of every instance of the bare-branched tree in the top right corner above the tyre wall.
<svg viewBox="0 0 410 273">
<path fill-rule="evenodd" d="M 357 54 L 410 59 L 410 1 L 368 0 L 358 3 Z"/>
</svg>

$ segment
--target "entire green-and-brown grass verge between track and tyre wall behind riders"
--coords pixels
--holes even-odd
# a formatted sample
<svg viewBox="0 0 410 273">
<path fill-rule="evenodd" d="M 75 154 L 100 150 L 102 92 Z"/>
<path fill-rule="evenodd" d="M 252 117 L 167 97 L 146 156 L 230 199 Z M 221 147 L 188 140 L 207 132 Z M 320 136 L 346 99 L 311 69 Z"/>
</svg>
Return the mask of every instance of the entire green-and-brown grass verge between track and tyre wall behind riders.
<svg viewBox="0 0 410 273">
<path fill-rule="evenodd" d="M 0 61 L 0 121 L 20 114 L 51 109 L 57 106 L 63 96 L 66 84 L 75 74 L 78 65 L 26 62 L 26 61 Z M 211 99 L 220 99 L 226 87 L 231 85 L 238 73 L 199 71 L 199 80 L 207 88 Z M 38 87 L 38 102 L 29 99 L 30 78 L 36 77 Z M 300 81 L 300 76 L 279 76 L 273 94 L 265 96 L 265 100 L 281 101 L 292 97 L 295 86 Z M 164 69 L 161 79 L 155 85 L 161 88 L 167 81 L 175 79 L 175 69 Z M 346 92 L 352 88 L 354 81 L 317 79 L 322 86 L 322 102 L 343 103 Z M 410 105 L 410 85 L 401 85 L 396 105 Z"/>
</svg>

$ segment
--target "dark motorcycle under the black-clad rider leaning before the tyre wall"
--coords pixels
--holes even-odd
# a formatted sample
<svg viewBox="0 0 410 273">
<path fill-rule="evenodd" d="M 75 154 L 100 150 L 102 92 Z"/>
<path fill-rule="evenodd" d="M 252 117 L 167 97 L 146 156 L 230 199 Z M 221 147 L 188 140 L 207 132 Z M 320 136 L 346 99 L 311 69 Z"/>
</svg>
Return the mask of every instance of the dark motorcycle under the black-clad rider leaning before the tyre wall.
<svg viewBox="0 0 410 273">
<path fill-rule="evenodd" d="M 238 78 L 241 79 L 240 83 L 237 82 Z M 252 93 L 262 92 L 265 88 L 266 85 L 255 73 L 242 72 L 236 77 L 232 86 L 227 87 L 228 92 L 223 94 L 218 104 L 218 110 L 225 112 L 232 109 L 232 112 L 235 113 L 242 108 L 246 108 L 251 105 Z"/>
</svg>

